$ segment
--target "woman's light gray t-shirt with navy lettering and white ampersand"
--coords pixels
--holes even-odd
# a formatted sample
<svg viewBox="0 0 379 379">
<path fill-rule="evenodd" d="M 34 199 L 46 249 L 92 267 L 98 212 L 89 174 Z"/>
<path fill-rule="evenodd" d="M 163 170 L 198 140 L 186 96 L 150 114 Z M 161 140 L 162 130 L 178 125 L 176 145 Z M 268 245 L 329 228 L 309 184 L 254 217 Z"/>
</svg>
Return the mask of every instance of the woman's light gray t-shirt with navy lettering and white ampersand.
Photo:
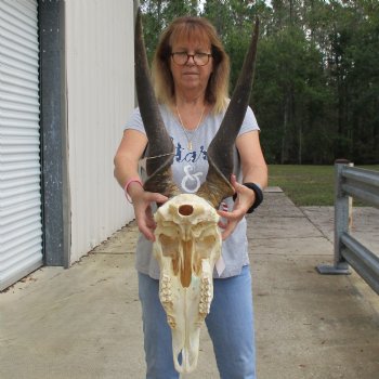
<svg viewBox="0 0 379 379">
<path fill-rule="evenodd" d="M 208 172 L 208 145 L 220 128 L 224 114 L 208 114 L 196 131 L 186 131 L 184 133 L 179 120 L 169 108 L 165 105 L 160 105 L 159 108 L 166 129 L 175 146 L 175 156 L 172 164 L 173 180 L 183 193 L 196 193 Z M 145 133 L 139 108 L 134 109 L 126 123 L 125 130 L 127 129 L 134 129 Z M 251 108 L 248 107 L 238 135 L 252 130 L 259 130 L 259 127 Z M 192 141 L 192 151 L 187 148 L 188 139 Z M 235 149 L 235 173 L 240 182 L 241 171 L 237 149 Z M 232 197 L 226 198 L 224 204 L 227 205 L 228 210 L 233 209 Z M 158 279 L 159 266 L 152 253 L 152 243 L 140 234 L 136 245 L 135 267 L 139 272 Z M 241 267 L 249 264 L 245 218 L 240 220 L 233 234 L 223 241 L 222 258 L 225 269 L 220 276 L 214 270 L 214 277 L 238 275 Z"/>
</svg>

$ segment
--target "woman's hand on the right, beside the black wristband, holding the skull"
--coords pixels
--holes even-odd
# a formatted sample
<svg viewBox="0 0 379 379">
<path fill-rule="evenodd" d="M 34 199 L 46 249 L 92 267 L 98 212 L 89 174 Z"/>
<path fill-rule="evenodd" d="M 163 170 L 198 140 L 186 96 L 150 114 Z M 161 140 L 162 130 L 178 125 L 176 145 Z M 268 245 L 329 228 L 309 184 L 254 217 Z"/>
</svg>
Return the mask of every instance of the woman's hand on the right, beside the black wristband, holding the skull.
<svg viewBox="0 0 379 379">
<path fill-rule="evenodd" d="M 238 222 L 244 218 L 246 212 L 256 200 L 254 192 L 245 185 L 239 184 L 234 174 L 231 178 L 231 183 L 237 194 L 233 210 L 231 212 L 218 210 L 219 215 L 224 219 L 224 221 L 219 221 L 219 226 L 223 228 L 223 232 L 221 234 L 223 240 L 233 233 Z"/>
</svg>

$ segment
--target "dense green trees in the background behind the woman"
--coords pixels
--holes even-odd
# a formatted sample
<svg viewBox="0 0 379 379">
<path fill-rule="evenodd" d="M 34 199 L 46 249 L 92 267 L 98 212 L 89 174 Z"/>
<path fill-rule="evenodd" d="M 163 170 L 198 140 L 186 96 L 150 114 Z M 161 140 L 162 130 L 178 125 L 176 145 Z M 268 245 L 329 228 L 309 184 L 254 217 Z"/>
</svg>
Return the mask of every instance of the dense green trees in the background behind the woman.
<svg viewBox="0 0 379 379">
<path fill-rule="evenodd" d="M 149 58 L 174 17 L 207 17 L 231 56 L 231 90 L 260 17 L 250 105 L 270 164 L 379 162 L 377 0 L 143 0 L 141 5 Z"/>
</svg>

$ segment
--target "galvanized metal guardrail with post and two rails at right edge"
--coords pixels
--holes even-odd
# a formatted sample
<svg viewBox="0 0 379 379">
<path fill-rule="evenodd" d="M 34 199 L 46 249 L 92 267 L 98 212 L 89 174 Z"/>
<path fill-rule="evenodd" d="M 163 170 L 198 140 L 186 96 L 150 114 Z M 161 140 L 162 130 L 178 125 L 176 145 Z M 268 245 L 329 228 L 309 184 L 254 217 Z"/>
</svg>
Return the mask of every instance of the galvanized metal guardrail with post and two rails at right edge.
<svg viewBox="0 0 379 379">
<path fill-rule="evenodd" d="M 350 235 L 350 197 L 379 207 L 379 172 L 352 167 L 347 160 L 337 160 L 335 169 L 335 263 L 318 265 L 317 271 L 347 275 L 351 265 L 379 295 L 379 257 Z"/>
</svg>

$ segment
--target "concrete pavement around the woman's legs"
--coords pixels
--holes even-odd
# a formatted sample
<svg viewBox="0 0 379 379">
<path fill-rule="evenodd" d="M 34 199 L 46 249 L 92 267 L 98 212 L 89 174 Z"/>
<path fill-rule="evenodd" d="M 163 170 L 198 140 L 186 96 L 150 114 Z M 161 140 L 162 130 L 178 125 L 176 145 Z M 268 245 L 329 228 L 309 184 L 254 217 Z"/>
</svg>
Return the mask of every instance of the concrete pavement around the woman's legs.
<svg viewBox="0 0 379 379">
<path fill-rule="evenodd" d="M 379 252 L 379 210 L 357 209 L 354 233 Z M 332 262 L 332 208 L 299 209 L 267 193 L 249 217 L 259 379 L 378 379 L 379 297 Z M 69 270 L 43 267 L 0 293 L 1 379 L 144 378 L 135 225 Z M 201 331 L 198 368 L 219 378 Z"/>
</svg>

